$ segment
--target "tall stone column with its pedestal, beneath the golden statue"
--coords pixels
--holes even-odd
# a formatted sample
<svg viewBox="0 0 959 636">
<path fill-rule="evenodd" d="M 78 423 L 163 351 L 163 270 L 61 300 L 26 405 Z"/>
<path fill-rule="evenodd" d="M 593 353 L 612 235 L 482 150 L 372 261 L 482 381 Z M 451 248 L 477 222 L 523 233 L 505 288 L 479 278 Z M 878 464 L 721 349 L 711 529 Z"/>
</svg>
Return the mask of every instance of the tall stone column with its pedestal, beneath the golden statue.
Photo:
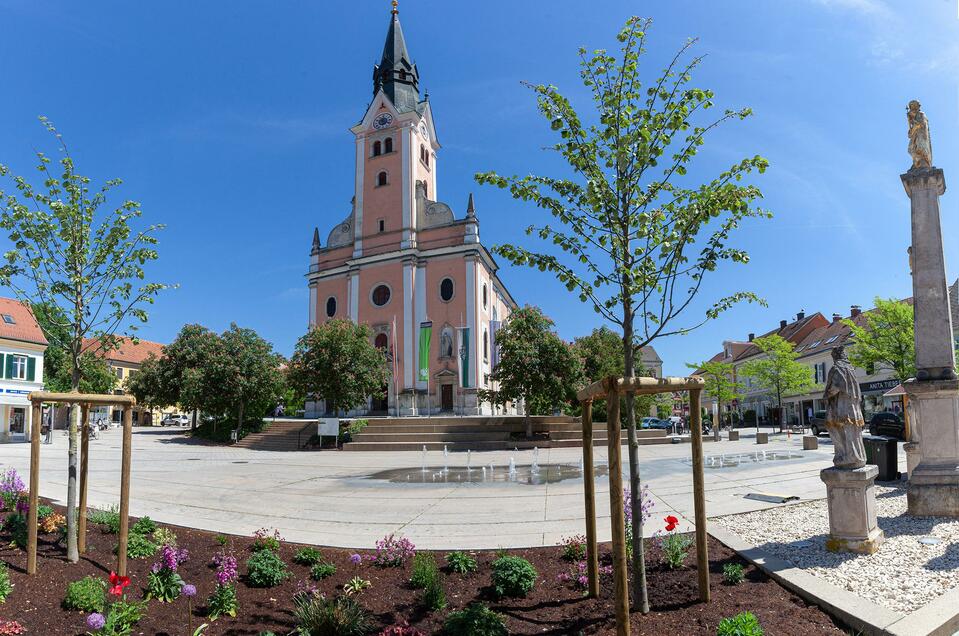
<svg viewBox="0 0 959 636">
<path fill-rule="evenodd" d="M 902 175 L 912 203 L 916 377 L 903 383 L 918 424 L 919 464 L 909 474 L 909 513 L 959 516 L 959 380 L 939 219 L 942 170 Z M 911 440 L 914 441 L 914 440 Z"/>
</svg>

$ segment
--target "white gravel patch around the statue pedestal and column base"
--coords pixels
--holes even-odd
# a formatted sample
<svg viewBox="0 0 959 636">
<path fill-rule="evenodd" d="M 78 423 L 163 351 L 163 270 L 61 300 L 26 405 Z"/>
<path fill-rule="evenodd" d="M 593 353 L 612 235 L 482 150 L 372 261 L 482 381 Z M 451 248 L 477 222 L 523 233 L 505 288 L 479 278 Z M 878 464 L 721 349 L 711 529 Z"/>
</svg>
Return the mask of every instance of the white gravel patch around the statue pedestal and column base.
<svg viewBox="0 0 959 636">
<path fill-rule="evenodd" d="M 914 612 L 959 585 L 959 520 L 908 515 L 905 486 L 877 486 L 876 515 L 886 540 L 871 555 L 826 550 L 824 500 L 712 521 L 757 548 L 896 612 Z M 941 541 L 920 543 L 924 537 Z"/>
</svg>

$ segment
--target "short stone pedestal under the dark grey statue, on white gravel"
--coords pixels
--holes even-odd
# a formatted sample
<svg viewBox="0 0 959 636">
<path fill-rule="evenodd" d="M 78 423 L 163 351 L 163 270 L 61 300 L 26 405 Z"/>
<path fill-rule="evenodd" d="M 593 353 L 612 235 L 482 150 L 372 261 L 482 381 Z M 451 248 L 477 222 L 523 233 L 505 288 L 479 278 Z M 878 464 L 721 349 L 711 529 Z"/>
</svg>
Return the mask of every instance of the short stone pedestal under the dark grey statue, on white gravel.
<svg viewBox="0 0 959 636">
<path fill-rule="evenodd" d="M 876 476 L 879 468 L 854 470 L 823 469 L 819 476 L 826 484 L 829 506 L 830 552 L 872 554 L 885 538 L 876 524 Z"/>
</svg>

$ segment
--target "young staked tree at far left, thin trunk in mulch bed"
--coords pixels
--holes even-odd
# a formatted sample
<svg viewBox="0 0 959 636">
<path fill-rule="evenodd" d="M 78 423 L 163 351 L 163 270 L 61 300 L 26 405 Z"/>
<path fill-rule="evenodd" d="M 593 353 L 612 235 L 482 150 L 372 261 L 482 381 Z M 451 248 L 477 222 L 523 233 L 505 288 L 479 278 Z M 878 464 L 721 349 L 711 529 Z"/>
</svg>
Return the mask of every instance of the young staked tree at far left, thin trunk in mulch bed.
<svg viewBox="0 0 959 636">
<path fill-rule="evenodd" d="M 18 298 L 56 307 L 49 317 L 62 334 L 56 344 L 67 355 L 70 390 L 79 391 L 84 380 L 84 339 L 115 346 L 113 335 L 131 333 L 136 322 L 146 322 L 146 305 L 166 288 L 149 283 L 145 266 L 156 260 L 156 232 L 151 225 L 135 229 L 140 205 L 125 201 L 112 212 L 101 206 L 119 179 L 91 192 L 90 179 L 78 174 L 63 138 L 46 118 L 40 120 L 57 139 L 60 168 L 38 152 L 37 169 L 42 188 L 23 177 L 11 177 L 0 165 L 0 177 L 11 177 L 15 192 L 0 191 L 0 228 L 9 233 L 13 248 L 0 267 L 0 284 Z M 77 551 L 77 430 L 79 409 L 70 421 L 67 462 L 67 559 L 79 560 Z"/>
</svg>

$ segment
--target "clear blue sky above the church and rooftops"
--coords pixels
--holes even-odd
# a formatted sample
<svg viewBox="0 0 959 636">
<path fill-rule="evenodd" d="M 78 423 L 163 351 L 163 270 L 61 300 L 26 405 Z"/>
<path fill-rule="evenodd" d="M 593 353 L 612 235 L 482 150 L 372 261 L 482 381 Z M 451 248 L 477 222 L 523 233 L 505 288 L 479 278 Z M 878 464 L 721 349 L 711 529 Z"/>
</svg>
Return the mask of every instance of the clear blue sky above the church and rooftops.
<svg viewBox="0 0 959 636">
<path fill-rule="evenodd" d="M 612 47 L 629 15 L 655 19 L 649 79 L 695 36 L 708 56 L 694 83 L 713 89 L 719 107 L 754 109 L 707 140 L 692 174 L 767 157 L 756 183 L 775 217 L 741 230 L 752 262 L 709 277 L 690 320 L 740 289 L 769 308 L 739 307 L 658 341 L 672 373 L 799 310 L 848 313 L 877 295 L 911 294 L 905 106 L 922 101 L 935 163 L 959 188 L 957 11 L 956 0 L 400 5 L 443 144 L 439 198 L 462 214 L 475 192 L 489 245 L 522 239 L 543 216 L 473 174 L 561 169 L 541 150 L 552 137 L 520 82 L 553 83 L 588 109 L 576 49 Z M 121 177 L 145 219 L 168 226 L 151 273 L 180 288 L 157 301 L 141 335 L 167 342 L 187 322 L 237 322 L 289 354 L 306 326 L 313 227 L 325 236 L 349 211 L 348 128 L 371 98 L 389 3 L 0 0 L 0 16 L 0 162 L 32 174 L 33 149 L 52 150 L 36 120 L 44 114 L 81 171 Z M 957 196 L 942 199 L 950 281 Z M 540 305 L 562 336 L 598 326 L 548 275 L 501 265 L 513 295 Z"/>
</svg>

